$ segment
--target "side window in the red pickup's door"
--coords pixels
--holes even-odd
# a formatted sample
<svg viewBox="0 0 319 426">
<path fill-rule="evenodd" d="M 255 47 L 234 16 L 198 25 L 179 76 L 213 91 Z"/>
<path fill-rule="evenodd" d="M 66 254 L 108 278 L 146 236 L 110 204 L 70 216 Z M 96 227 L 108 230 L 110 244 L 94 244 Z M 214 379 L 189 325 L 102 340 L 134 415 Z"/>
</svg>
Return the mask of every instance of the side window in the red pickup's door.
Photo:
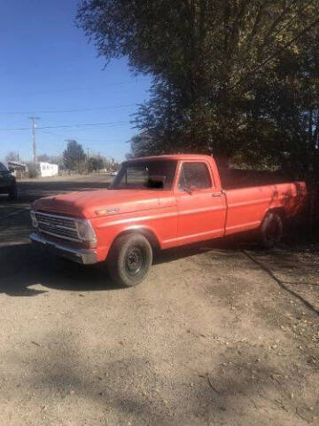
<svg viewBox="0 0 319 426">
<path fill-rule="evenodd" d="M 184 162 L 178 181 L 178 189 L 212 187 L 212 179 L 205 162 Z"/>
</svg>

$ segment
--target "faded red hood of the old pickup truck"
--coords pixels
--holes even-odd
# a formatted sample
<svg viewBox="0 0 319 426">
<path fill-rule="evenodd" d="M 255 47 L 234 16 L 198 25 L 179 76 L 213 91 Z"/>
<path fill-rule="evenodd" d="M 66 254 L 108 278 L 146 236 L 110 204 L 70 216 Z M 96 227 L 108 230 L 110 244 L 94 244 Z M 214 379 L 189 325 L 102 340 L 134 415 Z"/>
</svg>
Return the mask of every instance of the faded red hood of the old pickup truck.
<svg viewBox="0 0 319 426">
<path fill-rule="evenodd" d="M 168 191 L 103 189 L 40 198 L 33 203 L 32 207 L 33 209 L 89 219 L 97 217 L 97 210 L 105 210 L 103 216 L 108 216 L 159 209 L 175 204 L 173 193 Z"/>
</svg>

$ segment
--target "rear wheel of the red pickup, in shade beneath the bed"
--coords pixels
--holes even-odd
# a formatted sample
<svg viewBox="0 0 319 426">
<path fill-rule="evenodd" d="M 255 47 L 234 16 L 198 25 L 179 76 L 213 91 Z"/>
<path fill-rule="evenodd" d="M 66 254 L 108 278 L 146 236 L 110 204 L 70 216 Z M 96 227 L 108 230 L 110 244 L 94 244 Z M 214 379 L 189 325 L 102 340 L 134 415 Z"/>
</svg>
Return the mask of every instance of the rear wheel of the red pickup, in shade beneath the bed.
<svg viewBox="0 0 319 426">
<path fill-rule="evenodd" d="M 268 211 L 261 224 L 261 246 L 273 248 L 283 238 L 284 225 L 282 218 L 272 211 Z"/>
</svg>

